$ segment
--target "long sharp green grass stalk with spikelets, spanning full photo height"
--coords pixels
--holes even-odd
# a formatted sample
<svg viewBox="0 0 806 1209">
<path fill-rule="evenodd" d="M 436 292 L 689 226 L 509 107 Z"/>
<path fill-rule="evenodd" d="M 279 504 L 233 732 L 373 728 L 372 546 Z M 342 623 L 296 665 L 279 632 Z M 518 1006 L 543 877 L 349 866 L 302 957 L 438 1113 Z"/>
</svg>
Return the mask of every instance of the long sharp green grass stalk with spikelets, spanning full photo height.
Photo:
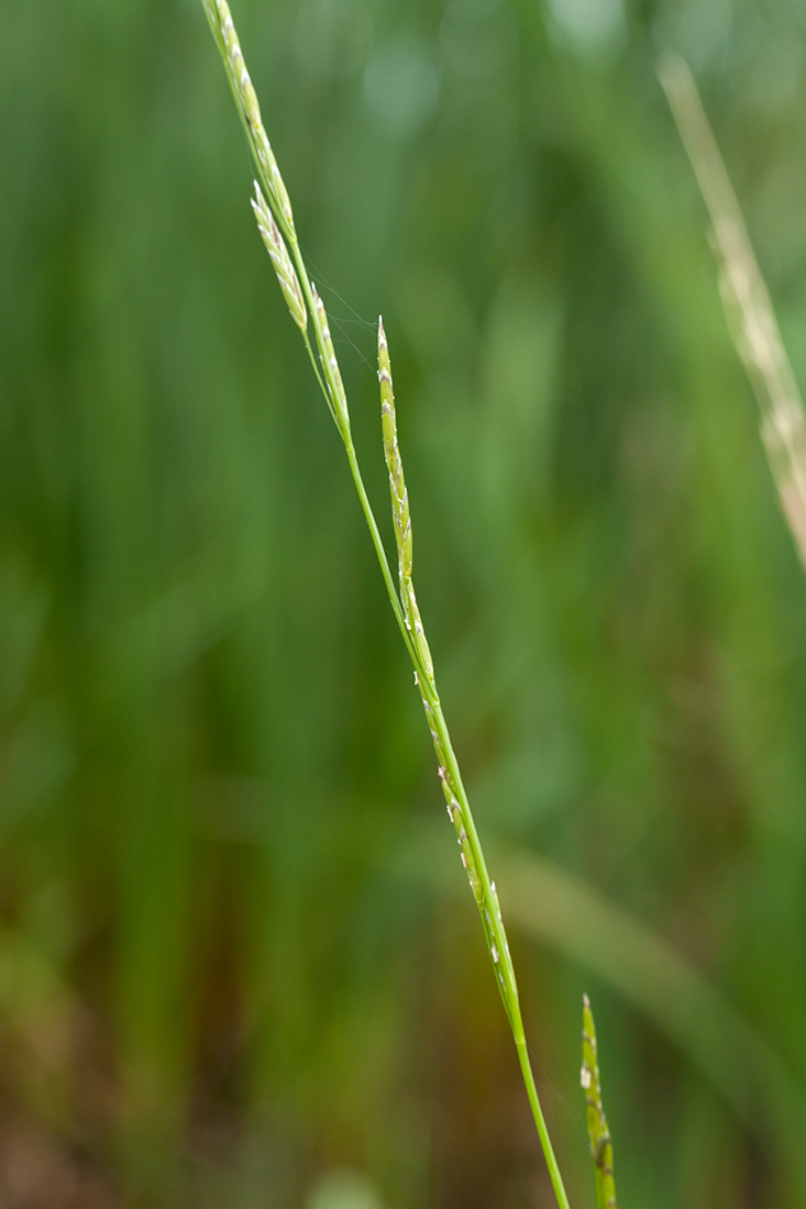
<svg viewBox="0 0 806 1209">
<path fill-rule="evenodd" d="M 397 585 L 395 584 L 395 578 L 358 467 L 350 430 L 347 399 L 339 371 L 339 363 L 333 348 L 324 305 L 317 294 L 316 287 L 309 278 L 303 260 L 288 192 L 263 126 L 258 98 L 243 60 L 232 17 L 226 0 L 203 0 L 203 5 L 221 58 L 224 59 L 230 87 L 238 105 L 238 112 L 258 173 L 255 199 L 252 203 L 258 229 L 277 273 L 292 318 L 301 331 L 317 381 L 347 453 L 350 470 L 369 527 L 373 545 L 375 546 L 375 554 L 378 555 L 390 603 L 407 650 L 414 664 L 415 678 L 437 756 L 438 775 L 445 796 L 448 815 L 456 831 L 461 861 L 467 872 L 471 890 L 482 919 L 488 951 L 518 1051 L 518 1060 L 529 1104 L 537 1127 L 540 1144 L 543 1150 L 557 1203 L 559 1209 L 569 1209 L 563 1180 L 548 1136 L 529 1063 L 518 987 L 509 956 L 509 944 L 503 929 L 499 896 L 495 883 L 490 880 L 487 870 L 467 793 L 462 785 L 459 764 L 450 742 L 448 725 L 437 693 L 431 650 L 414 594 L 414 583 L 411 579 L 411 517 L 403 478 L 403 462 L 397 440 L 392 371 L 384 324 L 379 322 L 378 329 L 378 377 L 381 394 L 384 453 L 388 468 L 392 494 L 392 519 L 398 561 Z M 310 334 L 311 328 L 312 340 Z"/>
</svg>

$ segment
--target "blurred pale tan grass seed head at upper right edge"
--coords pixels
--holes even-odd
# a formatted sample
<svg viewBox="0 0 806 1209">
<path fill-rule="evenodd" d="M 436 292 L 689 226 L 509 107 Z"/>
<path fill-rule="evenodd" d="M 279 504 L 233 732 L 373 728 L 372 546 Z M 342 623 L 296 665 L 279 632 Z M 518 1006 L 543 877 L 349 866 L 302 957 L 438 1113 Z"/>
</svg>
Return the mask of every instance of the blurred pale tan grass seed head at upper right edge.
<svg viewBox="0 0 806 1209">
<path fill-rule="evenodd" d="M 658 76 L 710 214 L 731 335 L 759 400 L 781 507 L 806 567 L 806 415 L 795 375 L 693 76 L 677 54 L 663 59 Z"/>
</svg>

